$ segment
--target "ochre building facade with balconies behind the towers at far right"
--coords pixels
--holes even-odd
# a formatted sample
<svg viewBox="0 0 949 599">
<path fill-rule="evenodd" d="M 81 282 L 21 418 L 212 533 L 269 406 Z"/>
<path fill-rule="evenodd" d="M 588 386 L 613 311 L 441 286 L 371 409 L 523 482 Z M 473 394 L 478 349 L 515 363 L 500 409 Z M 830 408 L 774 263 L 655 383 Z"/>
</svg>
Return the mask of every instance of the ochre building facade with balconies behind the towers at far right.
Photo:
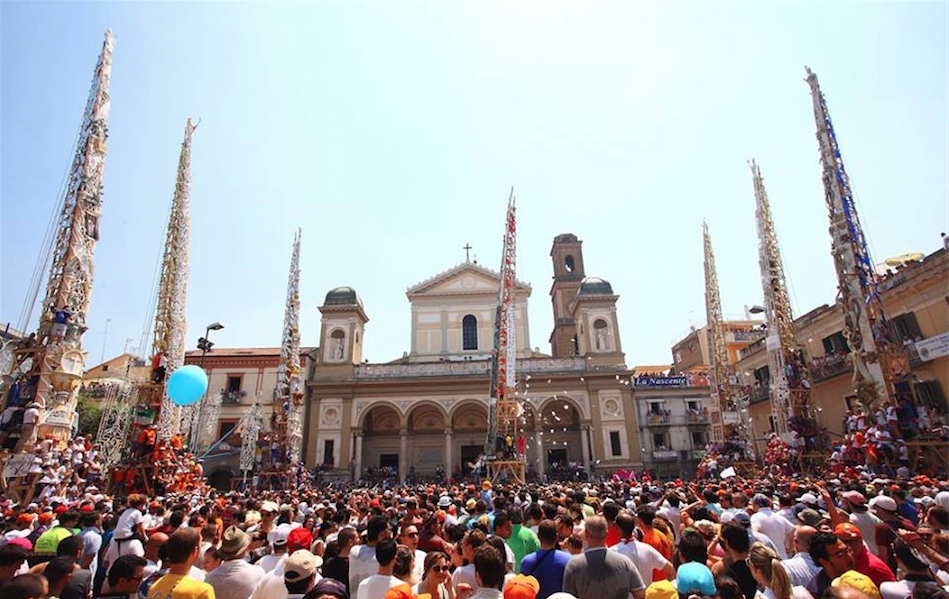
<svg viewBox="0 0 949 599">
<path fill-rule="evenodd" d="M 946 417 L 949 407 L 949 251 L 941 249 L 882 277 L 881 298 L 888 336 L 902 347 L 911 372 L 898 385 L 932 415 Z M 839 439 L 847 410 L 859 407 L 843 335 L 839 305 L 823 305 L 794 321 L 797 340 L 808 362 L 815 417 Z M 749 402 L 751 427 L 762 448 L 774 430 L 769 395 L 770 372 L 762 338 L 740 351 L 737 375 Z"/>
</svg>

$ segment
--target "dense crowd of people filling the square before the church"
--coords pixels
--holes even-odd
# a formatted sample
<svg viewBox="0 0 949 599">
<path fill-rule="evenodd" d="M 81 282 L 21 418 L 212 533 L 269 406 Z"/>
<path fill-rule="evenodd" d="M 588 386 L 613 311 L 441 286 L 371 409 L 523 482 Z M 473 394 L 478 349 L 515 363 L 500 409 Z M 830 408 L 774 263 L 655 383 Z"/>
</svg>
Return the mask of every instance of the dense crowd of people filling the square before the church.
<svg viewBox="0 0 949 599">
<path fill-rule="evenodd" d="M 37 456 L 51 483 L 0 501 L 2 599 L 949 597 L 945 476 L 126 494 L 86 439 Z"/>
</svg>

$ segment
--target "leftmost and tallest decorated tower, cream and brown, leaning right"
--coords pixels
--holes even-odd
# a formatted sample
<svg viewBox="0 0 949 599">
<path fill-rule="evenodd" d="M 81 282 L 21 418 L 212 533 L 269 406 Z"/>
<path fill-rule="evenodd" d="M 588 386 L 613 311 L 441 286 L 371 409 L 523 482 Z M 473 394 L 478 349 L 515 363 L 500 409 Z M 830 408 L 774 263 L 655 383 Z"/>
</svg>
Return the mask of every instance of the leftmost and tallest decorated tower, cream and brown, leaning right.
<svg viewBox="0 0 949 599">
<path fill-rule="evenodd" d="M 43 410 L 39 435 L 52 434 L 60 440 L 71 434 L 85 367 L 82 334 L 86 331 L 92 296 L 102 213 L 102 170 L 108 139 L 114 43 L 112 32 L 107 31 L 59 213 L 30 373 L 31 378 L 38 377 L 34 398 Z M 20 448 L 28 443 L 29 440 L 21 443 Z"/>
</svg>

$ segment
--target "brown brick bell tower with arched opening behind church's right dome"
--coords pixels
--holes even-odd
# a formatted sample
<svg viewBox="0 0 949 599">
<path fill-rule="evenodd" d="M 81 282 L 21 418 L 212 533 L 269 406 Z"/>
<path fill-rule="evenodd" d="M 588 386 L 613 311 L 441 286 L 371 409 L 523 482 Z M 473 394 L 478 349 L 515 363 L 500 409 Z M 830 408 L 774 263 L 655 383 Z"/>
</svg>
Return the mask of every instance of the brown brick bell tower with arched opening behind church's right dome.
<svg viewBox="0 0 949 599">
<path fill-rule="evenodd" d="M 554 283 L 550 287 L 554 330 L 550 333 L 550 350 L 555 358 L 579 354 L 577 324 L 570 313 L 570 305 L 586 276 L 582 245 L 583 242 L 573 233 L 563 233 L 554 238 L 554 245 L 550 248 L 550 258 L 554 263 Z"/>
</svg>

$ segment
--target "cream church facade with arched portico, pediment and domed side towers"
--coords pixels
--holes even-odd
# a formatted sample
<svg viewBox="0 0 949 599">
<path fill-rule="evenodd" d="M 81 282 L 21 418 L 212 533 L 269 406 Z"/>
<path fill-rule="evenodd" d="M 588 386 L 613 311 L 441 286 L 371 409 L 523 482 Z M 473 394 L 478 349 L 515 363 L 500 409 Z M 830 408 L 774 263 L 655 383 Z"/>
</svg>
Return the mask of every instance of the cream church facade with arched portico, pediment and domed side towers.
<svg viewBox="0 0 949 599">
<path fill-rule="evenodd" d="M 516 286 L 517 393 L 528 471 L 557 475 L 641 468 L 637 410 L 609 282 L 587 277 L 582 242 L 551 249 L 551 355 L 531 349 L 528 301 Z M 320 307 L 319 348 L 307 369 L 304 455 L 339 477 L 380 470 L 400 478 L 467 472 L 488 427 L 498 273 L 464 262 L 406 292 L 410 350 L 368 363 L 362 348 L 371 306 L 339 287 Z"/>
</svg>

